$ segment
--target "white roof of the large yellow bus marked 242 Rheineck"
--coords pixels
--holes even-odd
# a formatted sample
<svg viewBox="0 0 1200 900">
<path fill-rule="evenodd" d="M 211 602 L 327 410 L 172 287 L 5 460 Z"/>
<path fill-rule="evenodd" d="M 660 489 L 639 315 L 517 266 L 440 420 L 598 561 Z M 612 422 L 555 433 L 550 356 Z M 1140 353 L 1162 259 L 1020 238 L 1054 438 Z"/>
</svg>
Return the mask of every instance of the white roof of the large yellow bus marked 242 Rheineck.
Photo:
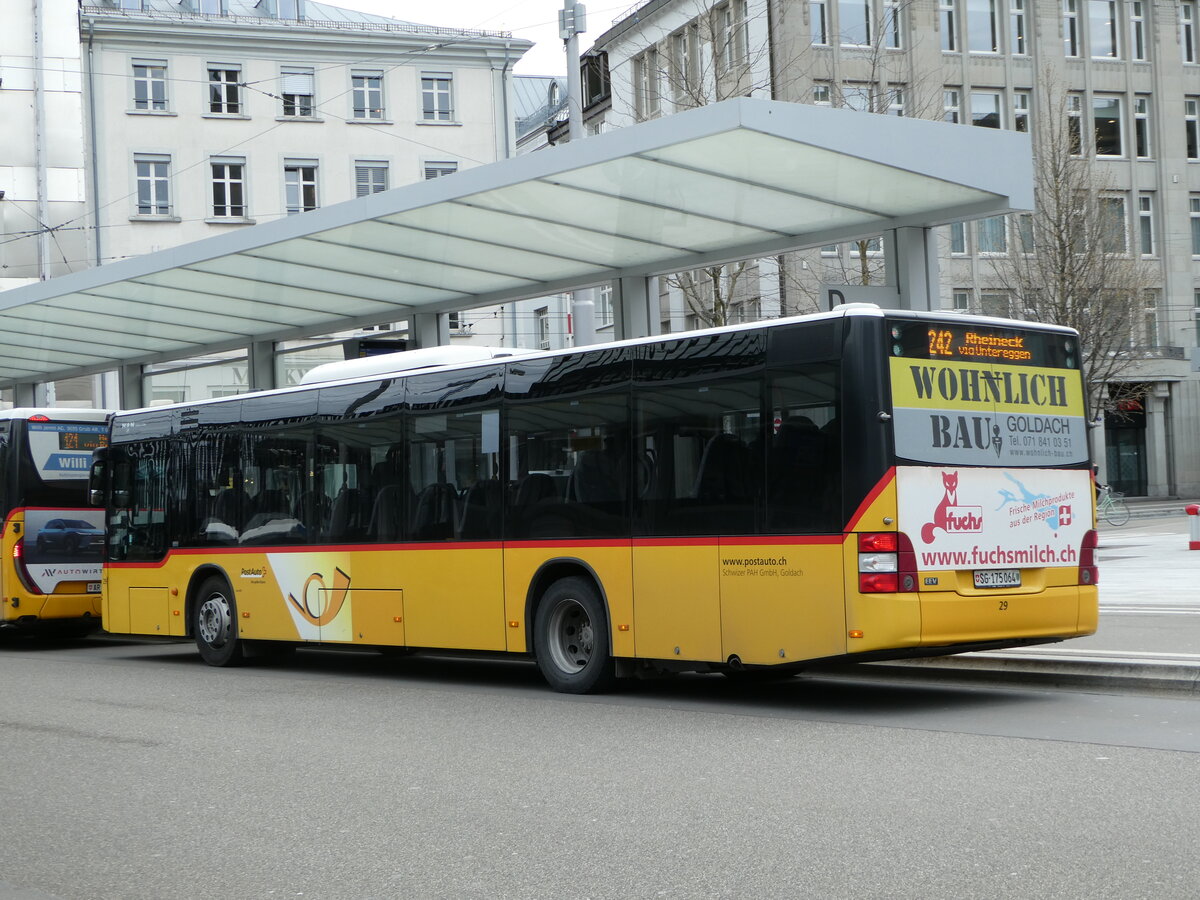
<svg viewBox="0 0 1200 900">
<path fill-rule="evenodd" d="M 386 353 L 378 356 L 367 356 L 361 360 L 348 360 L 347 364 L 365 364 L 361 370 L 350 370 L 349 374 L 342 374 L 347 370 L 336 370 L 335 367 L 346 366 L 343 362 L 328 362 L 323 366 L 314 367 L 308 374 L 311 376 L 319 370 L 331 370 L 331 377 L 318 379 L 306 378 L 299 384 L 289 388 L 276 388 L 274 390 L 266 391 L 251 391 L 246 394 L 236 394 L 227 397 L 211 397 L 208 400 L 193 400 L 184 403 L 164 403 L 162 406 L 154 407 L 142 407 L 139 409 L 122 409 L 116 412 L 118 418 L 124 418 L 132 415 L 134 413 L 161 413 L 167 409 L 191 409 L 198 406 L 209 406 L 212 403 L 226 403 L 235 400 L 241 400 L 245 397 L 268 397 L 268 396 L 283 396 L 288 394 L 295 394 L 300 391 L 316 390 L 317 388 L 331 386 L 335 384 L 353 384 L 356 382 L 371 382 L 378 380 L 380 378 L 388 378 L 389 376 L 396 374 L 427 374 L 431 372 L 448 372 L 457 368 L 469 368 L 472 366 L 478 366 L 480 364 L 494 360 L 498 362 L 508 361 L 509 359 L 548 359 L 553 356 L 566 356 L 572 353 L 582 353 L 584 350 L 604 350 L 614 347 L 638 347 L 648 343 L 659 343 L 661 341 L 671 340 L 689 340 L 694 337 L 703 337 L 706 335 L 715 334 L 730 334 L 736 331 L 754 331 L 761 328 L 778 328 L 780 325 L 799 324 L 804 322 L 821 322 L 824 319 L 836 319 L 846 317 L 870 317 L 870 318 L 883 318 L 884 316 L 889 318 L 908 318 L 908 319 L 928 319 L 928 320 L 953 320 L 953 322 L 968 322 L 979 325 L 990 325 L 992 328 L 1019 328 L 1034 331 L 1058 331 L 1062 334 L 1076 334 L 1073 329 L 1063 328 L 1061 325 L 1045 325 L 1037 322 L 1019 322 L 1016 319 L 1002 319 L 991 316 L 970 316 L 956 312 L 925 312 L 925 311 L 913 311 L 913 310 L 890 310 L 883 308 L 876 304 L 842 304 L 834 307 L 833 310 L 826 312 L 809 313 L 804 316 L 786 316 L 778 319 L 767 319 L 762 322 L 748 322 L 738 325 L 719 325 L 715 328 L 695 329 L 691 331 L 679 331 L 670 335 L 647 335 L 644 337 L 632 337 L 624 341 L 612 341 L 610 343 L 598 343 L 587 344 L 586 347 L 564 347 L 557 350 L 523 350 L 511 347 L 463 347 L 463 348 L 450 348 L 450 347 L 430 347 L 415 350 L 401 350 L 398 353 Z M 450 350 L 450 353 L 448 353 Z M 456 354 L 455 350 L 468 350 L 469 354 Z M 420 356 L 410 356 L 410 354 L 421 354 Z M 463 356 L 470 355 L 472 359 L 463 359 Z M 445 361 L 437 361 L 439 356 L 448 358 Z M 458 356 L 458 359 L 454 359 Z M 54 410 L 52 410 L 54 412 Z"/>
</svg>

